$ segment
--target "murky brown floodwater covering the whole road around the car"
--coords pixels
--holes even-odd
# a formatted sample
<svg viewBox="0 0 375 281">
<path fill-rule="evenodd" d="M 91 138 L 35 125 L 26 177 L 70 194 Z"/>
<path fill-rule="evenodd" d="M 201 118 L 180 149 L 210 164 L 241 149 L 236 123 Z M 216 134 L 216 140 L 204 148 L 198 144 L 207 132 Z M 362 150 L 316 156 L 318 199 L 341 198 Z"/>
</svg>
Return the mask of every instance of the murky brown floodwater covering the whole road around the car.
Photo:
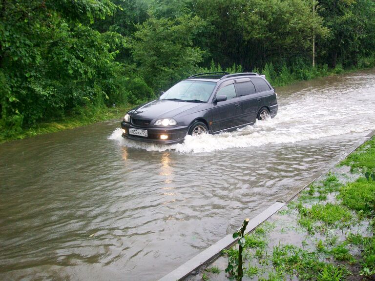
<svg viewBox="0 0 375 281">
<path fill-rule="evenodd" d="M 375 69 L 276 90 L 273 120 L 172 146 L 119 120 L 0 145 L 0 280 L 157 280 L 375 129 Z"/>
</svg>

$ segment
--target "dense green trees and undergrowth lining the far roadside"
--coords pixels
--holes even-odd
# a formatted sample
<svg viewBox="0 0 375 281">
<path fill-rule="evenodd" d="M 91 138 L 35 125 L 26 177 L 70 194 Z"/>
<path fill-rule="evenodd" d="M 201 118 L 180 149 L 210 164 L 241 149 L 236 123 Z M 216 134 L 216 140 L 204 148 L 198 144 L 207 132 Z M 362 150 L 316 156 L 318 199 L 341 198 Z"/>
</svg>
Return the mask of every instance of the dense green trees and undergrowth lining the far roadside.
<svg viewBox="0 0 375 281">
<path fill-rule="evenodd" d="M 198 71 L 285 84 L 374 66 L 374 18 L 373 0 L 0 0 L 1 133 L 146 100 Z"/>
</svg>

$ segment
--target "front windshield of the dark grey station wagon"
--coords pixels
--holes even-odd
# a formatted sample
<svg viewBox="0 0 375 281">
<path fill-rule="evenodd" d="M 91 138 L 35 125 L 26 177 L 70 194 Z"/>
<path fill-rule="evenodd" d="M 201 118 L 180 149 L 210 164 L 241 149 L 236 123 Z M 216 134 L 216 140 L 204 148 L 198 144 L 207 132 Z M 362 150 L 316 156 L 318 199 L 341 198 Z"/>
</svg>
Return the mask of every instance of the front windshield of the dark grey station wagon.
<svg viewBox="0 0 375 281">
<path fill-rule="evenodd" d="M 181 81 L 165 92 L 160 100 L 207 102 L 216 82 Z"/>
</svg>

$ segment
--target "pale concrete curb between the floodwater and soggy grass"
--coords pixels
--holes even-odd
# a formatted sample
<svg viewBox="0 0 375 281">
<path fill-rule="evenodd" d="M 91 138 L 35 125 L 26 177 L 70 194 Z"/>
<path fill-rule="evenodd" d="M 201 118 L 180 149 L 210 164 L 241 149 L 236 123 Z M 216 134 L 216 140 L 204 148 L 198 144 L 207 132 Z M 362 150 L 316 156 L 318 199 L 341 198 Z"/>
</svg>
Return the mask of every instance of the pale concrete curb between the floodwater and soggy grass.
<svg viewBox="0 0 375 281">
<path fill-rule="evenodd" d="M 298 196 L 301 191 L 306 189 L 312 182 L 316 181 L 320 177 L 324 176 L 331 167 L 337 164 L 337 162 L 342 161 L 345 159 L 349 154 L 351 154 L 355 149 L 357 149 L 359 146 L 361 146 L 363 143 L 371 139 L 373 136 L 375 136 L 375 130 L 370 132 L 368 135 L 362 137 L 359 141 L 356 141 L 350 148 L 348 148 L 344 153 L 341 155 L 333 158 L 333 160 L 325 166 L 324 168 L 320 169 L 314 179 L 310 181 L 308 184 L 304 185 L 302 189 L 300 189 L 297 192 L 292 193 L 288 196 L 288 200 L 280 200 L 273 203 L 270 207 L 268 207 L 266 210 L 255 216 L 253 219 L 249 221 L 249 224 L 246 228 L 246 233 L 250 233 L 253 231 L 259 224 L 269 219 L 273 214 L 275 214 L 278 210 L 280 210 L 282 207 L 284 207 L 288 202 L 292 201 L 296 196 Z M 185 262 L 172 272 L 168 273 L 166 276 L 162 277 L 158 281 L 178 281 L 182 280 L 185 277 L 187 277 L 191 272 L 198 269 L 204 264 L 208 264 L 210 261 L 215 260 L 217 257 L 221 255 L 221 251 L 224 249 L 228 249 L 231 246 L 233 246 L 237 242 L 237 239 L 233 239 L 232 235 L 227 235 L 223 239 L 217 241 L 210 247 L 208 247 L 203 252 L 199 253 L 195 257 L 191 258 L 189 261 Z"/>
</svg>

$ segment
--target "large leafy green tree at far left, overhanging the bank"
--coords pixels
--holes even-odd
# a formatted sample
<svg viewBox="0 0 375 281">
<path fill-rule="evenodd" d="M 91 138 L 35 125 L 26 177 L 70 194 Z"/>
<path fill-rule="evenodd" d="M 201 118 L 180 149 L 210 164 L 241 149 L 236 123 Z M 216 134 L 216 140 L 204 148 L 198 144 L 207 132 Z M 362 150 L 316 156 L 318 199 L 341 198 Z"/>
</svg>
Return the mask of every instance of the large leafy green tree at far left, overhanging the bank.
<svg viewBox="0 0 375 281">
<path fill-rule="evenodd" d="M 125 44 L 90 27 L 113 13 L 109 0 L 0 2 L 0 126 L 10 131 L 119 96 Z"/>
</svg>

